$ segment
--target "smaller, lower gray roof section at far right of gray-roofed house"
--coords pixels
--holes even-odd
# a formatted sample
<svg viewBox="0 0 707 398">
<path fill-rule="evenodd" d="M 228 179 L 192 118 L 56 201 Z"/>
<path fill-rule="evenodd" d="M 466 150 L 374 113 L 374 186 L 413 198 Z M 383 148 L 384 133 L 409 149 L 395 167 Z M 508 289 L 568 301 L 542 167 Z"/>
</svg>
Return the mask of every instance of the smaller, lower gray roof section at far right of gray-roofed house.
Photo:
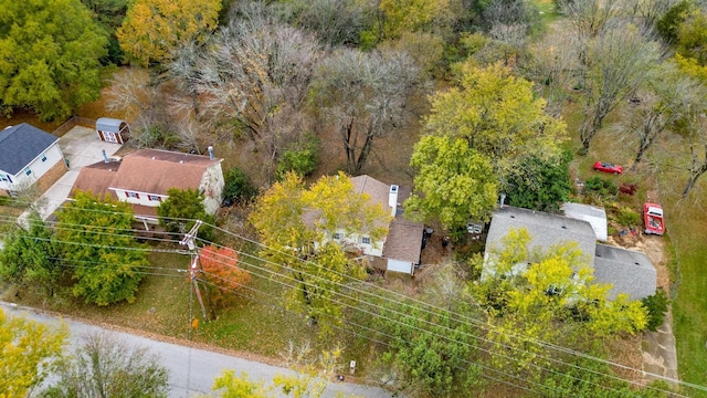
<svg viewBox="0 0 707 398">
<path fill-rule="evenodd" d="M 655 294 L 657 272 L 642 253 L 605 244 L 597 244 L 594 282 L 613 284 L 609 297 L 626 293 L 633 300 Z"/>
</svg>

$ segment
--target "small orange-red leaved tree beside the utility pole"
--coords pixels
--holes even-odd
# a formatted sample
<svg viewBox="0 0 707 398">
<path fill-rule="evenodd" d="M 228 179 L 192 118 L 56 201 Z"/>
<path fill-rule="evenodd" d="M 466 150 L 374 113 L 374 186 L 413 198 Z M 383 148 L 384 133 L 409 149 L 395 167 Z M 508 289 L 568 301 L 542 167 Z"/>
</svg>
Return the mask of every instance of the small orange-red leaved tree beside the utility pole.
<svg viewBox="0 0 707 398">
<path fill-rule="evenodd" d="M 238 266 L 239 254 L 231 248 L 208 245 L 201 249 L 201 268 L 214 304 L 224 304 L 241 286 L 251 283 L 251 274 Z"/>
</svg>

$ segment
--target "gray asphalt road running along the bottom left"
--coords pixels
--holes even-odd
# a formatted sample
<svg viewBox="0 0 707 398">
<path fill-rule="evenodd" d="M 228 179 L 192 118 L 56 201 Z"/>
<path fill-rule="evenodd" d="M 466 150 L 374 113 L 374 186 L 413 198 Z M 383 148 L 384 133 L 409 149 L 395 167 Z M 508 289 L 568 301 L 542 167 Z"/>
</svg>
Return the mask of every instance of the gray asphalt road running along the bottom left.
<svg viewBox="0 0 707 398">
<path fill-rule="evenodd" d="M 200 395 L 212 394 L 213 391 L 211 390 L 211 386 L 213 385 L 213 379 L 224 369 L 234 369 L 236 375 L 245 371 L 251 379 L 264 380 L 268 384 L 276 374 L 292 374 L 292 370 L 286 368 L 246 360 L 205 349 L 159 342 L 124 332 L 116 332 L 71 318 L 61 318 L 54 315 L 49 315 L 33 308 L 18 307 L 14 304 L 6 302 L 0 302 L 0 307 L 2 307 L 6 315 L 10 316 L 23 315 L 30 320 L 51 325 L 57 325 L 59 323 L 64 322 L 71 332 L 67 352 L 71 352 L 74 347 L 78 346 L 82 343 L 83 336 L 95 333 L 108 333 L 130 345 L 149 347 L 151 353 L 157 354 L 162 358 L 162 364 L 166 365 L 170 371 L 170 397 L 198 397 Z M 337 392 L 370 398 L 392 397 L 390 392 L 381 388 L 348 383 L 329 384 L 324 397 L 335 397 Z"/>
</svg>

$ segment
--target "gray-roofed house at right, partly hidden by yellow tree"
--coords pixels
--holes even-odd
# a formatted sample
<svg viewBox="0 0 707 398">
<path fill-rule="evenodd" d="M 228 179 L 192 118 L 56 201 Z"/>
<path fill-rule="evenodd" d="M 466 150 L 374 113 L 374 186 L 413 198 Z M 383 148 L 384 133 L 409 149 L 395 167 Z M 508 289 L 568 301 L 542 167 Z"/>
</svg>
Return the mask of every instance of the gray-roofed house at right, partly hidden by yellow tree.
<svg viewBox="0 0 707 398">
<path fill-rule="evenodd" d="M 504 206 L 494 211 L 484 254 L 484 274 L 493 275 L 493 252 L 502 248 L 502 239 L 511 230 L 526 229 L 530 234 L 528 251 L 547 250 L 564 242 L 576 242 L 591 256 L 594 282 L 613 285 L 609 298 L 626 293 L 632 300 L 655 294 L 657 273 L 641 252 L 597 243 L 589 221 L 540 211 Z"/>
</svg>

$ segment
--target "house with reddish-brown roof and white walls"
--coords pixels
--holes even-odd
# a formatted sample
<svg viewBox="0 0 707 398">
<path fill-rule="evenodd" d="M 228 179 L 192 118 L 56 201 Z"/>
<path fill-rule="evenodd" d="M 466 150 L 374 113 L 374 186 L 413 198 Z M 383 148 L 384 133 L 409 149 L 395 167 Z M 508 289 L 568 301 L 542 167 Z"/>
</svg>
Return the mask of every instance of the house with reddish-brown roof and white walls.
<svg viewBox="0 0 707 398">
<path fill-rule="evenodd" d="M 119 161 L 101 161 L 84 167 L 70 192 L 88 191 L 99 198 L 114 198 L 133 205 L 136 219 L 157 224 L 157 208 L 171 188 L 196 189 L 203 195 L 208 213 L 219 209 L 223 197 L 221 161 L 210 156 L 160 149 L 140 149 Z"/>
</svg>

